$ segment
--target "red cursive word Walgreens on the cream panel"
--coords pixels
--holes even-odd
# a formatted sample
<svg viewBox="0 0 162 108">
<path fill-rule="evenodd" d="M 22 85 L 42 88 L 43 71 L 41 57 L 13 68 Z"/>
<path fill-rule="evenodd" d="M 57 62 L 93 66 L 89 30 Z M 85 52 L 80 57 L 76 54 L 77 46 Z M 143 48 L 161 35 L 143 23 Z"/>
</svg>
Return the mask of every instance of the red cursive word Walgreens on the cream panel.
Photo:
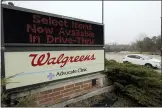
<svg viewBox="0 0 162 108">
<path fill-rule="evenodd" d="M 32 57 L 31 65 L 32 66 L 43 66 L 43 65 L 55 65 L 61 64 L 60 67 L 64 67 L 67 63 L 73 62 L 84 62 L 95 60 L 94 54 L 90 55 L 81 55 L 81 56 L 65 56 L 60 54 L 58 57 L 51 57 L 50 53 L 45 54 L 30 54 L 29 57 Z"/>
</svg>

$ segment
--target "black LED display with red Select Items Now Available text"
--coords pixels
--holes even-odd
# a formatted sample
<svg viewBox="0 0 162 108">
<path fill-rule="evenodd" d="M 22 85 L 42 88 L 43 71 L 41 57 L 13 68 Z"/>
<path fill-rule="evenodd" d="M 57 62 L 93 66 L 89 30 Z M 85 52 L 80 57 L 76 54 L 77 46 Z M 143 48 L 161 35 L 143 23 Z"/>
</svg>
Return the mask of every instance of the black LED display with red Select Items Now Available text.
<svg viewBox="0 0 162 108">
<path fill-rule="evenodd" d="M 34 11 L 2 9 L 4 43 L 104 45 L 101 24 L 47 16 Z"/>
</svg>

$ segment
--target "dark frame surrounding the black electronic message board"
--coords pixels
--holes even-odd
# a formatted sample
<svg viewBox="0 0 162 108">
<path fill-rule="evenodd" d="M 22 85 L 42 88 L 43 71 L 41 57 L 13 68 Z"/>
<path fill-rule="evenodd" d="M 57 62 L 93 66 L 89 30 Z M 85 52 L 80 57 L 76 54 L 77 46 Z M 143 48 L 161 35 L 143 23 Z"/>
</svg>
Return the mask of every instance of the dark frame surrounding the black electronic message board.
<svg viewBox="0 0 162 108">
<path fill-rule="evenodd" d="M 4 17 L 3 9 L 11 9 L 11 10 L 19 11 L 19 12 L 27 12 L 27 14 L 29 14 L 29 13 L 37 14 L 37 15 L 43 15 L 43 16 L 47 16 L 47 17 L 55 17 L 55 18 L 61 18 L 61 19 L 70 20 L 70 21 L 77 21 L 77 22 L 81 22 L 81 23 L 93 24 L 94 27 L 102 26 L 102 29 L 103 29 L 100 43 L 94 43 L 94 44 L 80 44 L 80 43 L 79 44 L 75 44 L 75 43 L 74 44 L 69 44 L 69 43 L 67 43 L 67 44 L 63 44 L 63 43 L 60 43 L 60 44 L 36 43 L 35 44 L 35 43 L 29 43 L 29 42 L 28 43 L 18 43 L 18 42 L 5 43 L 5 37 L 4 37 L 5 34 L 4 34 L 4 35 L 2 35 L 2 45 L 4 45 L 4 46 L 90 46 L 90 47 L 91 46 L 104 46 L 104 24 L 102 24 L 102 23 L 81 20 L 81 19 L 77 19 L 77 18 L 71 18 L 71 17 L 62 16 L 62 15 L 40 12 L 40 11 L 36 11 L 36 10 L 25 9 L 25 8 L 9 6 L 9 5 L 2 5 L 2 17 Z M 4 25 L 2 25 L 2 27 L 4 27 Z M 95 41 L 98 41 L 98 39 L 100 39 L 100 36 L 95 37 Z"/>
</svg>

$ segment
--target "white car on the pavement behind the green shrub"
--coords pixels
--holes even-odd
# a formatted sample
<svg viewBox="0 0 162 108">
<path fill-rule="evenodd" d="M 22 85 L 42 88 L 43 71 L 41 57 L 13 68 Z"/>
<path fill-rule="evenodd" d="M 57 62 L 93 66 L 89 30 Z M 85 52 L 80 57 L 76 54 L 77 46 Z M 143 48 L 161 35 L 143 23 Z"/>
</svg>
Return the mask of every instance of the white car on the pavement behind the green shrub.
<svg viewBox="0 0 162 108">
<path fill-rule="evenodd" d="M 132 64 L 144 65 L 148 68 L 161 68 L 161 61 L 142 54 L 129 54 L 123 58 L 123 63 L 130 62 Z"/>
</svg>

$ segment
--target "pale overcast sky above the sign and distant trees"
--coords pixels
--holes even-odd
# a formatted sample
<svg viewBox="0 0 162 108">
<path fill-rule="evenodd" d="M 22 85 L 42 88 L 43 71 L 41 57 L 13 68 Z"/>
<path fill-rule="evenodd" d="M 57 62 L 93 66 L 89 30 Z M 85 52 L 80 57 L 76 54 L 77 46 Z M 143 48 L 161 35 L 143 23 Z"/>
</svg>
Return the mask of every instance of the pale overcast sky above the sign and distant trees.
<svg viewBox="0 0 162 108">
<path fill-rule="evenodd" d="M 15 6 L 102 23 L 101 1 L 14 1 Z M 161 1 L 104 1 L 105 43 L 161 34 Z"/>
</svg>

